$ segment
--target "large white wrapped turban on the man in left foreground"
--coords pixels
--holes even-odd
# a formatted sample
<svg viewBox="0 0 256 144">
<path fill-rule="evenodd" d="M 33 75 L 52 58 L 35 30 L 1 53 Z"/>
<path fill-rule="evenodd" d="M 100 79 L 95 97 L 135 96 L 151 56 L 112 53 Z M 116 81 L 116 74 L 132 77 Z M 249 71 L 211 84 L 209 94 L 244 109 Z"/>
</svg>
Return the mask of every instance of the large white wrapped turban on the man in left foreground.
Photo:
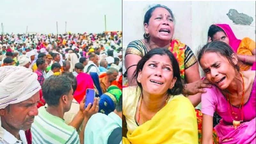
<svg viewBox="0 0 256 144">
<path fill-rule="evenodd" d="M 41 89 L 36 73 L 23 66 L 0 67 L 0 109 L 25 101 Z"/>
</svg>

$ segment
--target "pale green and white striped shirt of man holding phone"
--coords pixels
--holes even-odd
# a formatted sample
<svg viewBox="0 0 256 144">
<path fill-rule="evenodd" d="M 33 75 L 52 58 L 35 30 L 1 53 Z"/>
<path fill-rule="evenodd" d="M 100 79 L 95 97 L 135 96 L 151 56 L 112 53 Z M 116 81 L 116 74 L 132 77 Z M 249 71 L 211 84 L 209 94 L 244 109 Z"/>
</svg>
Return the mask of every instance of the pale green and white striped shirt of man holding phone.
<svg viewBox="0 0 256 144">
<path fill-rule="evenodd" d="M 31 132 L 33 144 L 80 144 L 76 129 L 65 124 L 62 118 L 48 113 L 45 107 L 38 109 Z"/>
</svg>

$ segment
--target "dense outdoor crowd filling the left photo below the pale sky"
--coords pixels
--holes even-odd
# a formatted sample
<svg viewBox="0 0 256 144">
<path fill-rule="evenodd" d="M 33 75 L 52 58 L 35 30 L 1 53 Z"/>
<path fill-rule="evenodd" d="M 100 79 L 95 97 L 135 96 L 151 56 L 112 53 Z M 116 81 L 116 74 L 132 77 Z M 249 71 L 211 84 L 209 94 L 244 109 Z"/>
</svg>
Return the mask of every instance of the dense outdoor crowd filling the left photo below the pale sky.
<svg viewBox="0 0 256 144">
<path fill-rule="evenodd" d="M 0 65 L 0 143 L 122 143 L 121 31 L 4 34 Z"/>
</svg>

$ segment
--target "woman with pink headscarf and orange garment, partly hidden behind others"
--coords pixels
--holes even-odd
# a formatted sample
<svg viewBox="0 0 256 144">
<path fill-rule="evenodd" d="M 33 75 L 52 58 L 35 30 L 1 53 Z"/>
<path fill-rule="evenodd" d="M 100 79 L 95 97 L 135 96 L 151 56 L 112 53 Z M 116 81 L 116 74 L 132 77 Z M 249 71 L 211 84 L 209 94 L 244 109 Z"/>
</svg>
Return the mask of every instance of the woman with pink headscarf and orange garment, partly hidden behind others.
<svg viewBox="0 0 256 144">
<path fill-rule="evenodd" d="M 238 64 L 241 71 L 256 70 L 256 45 L 253 40 L 248 37 L 239 40 L 231 30 L 228 24 L 214 24 L 208 30 L 208 42 L 222 41 L 236 52 Z"/>
</svg>

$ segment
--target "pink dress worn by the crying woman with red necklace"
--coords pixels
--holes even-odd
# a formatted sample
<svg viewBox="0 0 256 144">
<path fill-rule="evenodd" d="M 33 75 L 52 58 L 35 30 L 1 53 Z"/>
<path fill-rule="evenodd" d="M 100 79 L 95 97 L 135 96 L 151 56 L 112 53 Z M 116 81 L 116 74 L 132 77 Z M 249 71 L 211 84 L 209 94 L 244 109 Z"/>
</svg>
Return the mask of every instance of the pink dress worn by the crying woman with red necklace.
<svg viewBox="0 0 256 144">
<path fill-rule="evenodd" d="M 255 78 L 252 85 L 252 91 L 248 101 L 244 104 L 244 122 L 236 129 L 233 126 L 234 120 L 241 120 L 241 113 L 238 107 L 232 106 L 238 117 L 230 116 L 230 103 L 226 97 L 222 95 L 218 87 L 206 88 L 207 92 L 202 94 L 202 113 L 212 116 L 216 111 L 222 119 L 220 124 L 216 125 L 214 129 L 219 137 L 220 144 L 250 144 L 256 143 L 256 86 Z M 228 110 L 228 107 L 230 111 Z"/>
</svg>

